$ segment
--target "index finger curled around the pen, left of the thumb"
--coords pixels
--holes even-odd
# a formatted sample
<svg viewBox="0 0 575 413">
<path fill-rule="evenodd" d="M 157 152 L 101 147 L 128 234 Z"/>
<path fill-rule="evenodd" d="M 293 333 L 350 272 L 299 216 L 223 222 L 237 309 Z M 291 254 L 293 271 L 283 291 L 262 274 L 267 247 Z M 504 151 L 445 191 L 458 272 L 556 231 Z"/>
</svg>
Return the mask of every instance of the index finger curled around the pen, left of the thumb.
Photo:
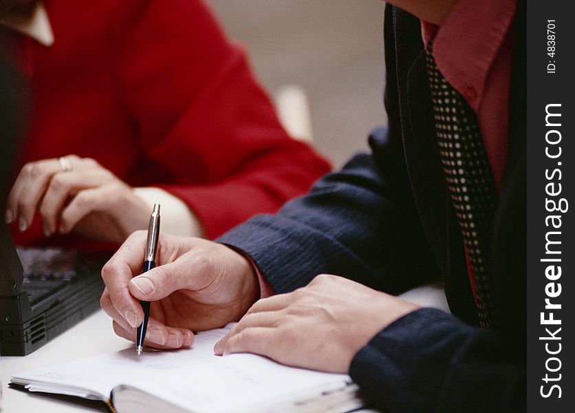
<svg viewBox="0 0 575 413">
<path fill-rule="evenodd" d="M 112 305 L 132 327 L 135 327 L 133 322 L 142 319 L 144 313 L 140 302 L 130 294 L 128 283 L 135 275 L 142 273 L 146 240 L 146 231 L 133 233 L 102 267 L 102 279 Z"/>
</svg>

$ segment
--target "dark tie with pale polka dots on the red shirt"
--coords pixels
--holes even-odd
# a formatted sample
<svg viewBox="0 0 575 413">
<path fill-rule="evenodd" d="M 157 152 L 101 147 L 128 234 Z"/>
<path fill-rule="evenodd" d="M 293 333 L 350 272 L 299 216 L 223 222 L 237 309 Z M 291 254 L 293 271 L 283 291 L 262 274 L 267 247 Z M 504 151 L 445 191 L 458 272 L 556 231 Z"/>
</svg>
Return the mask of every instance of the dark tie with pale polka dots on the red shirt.
<svg viewBox="0 0 575 413">
<path fill-rule="evenodd" d="M 494 303 L 490 266 L 497 189 L 477 124 L 464 98 L 442 76 L 428 45 L 427 74 L 433 101 L 437 143 L 451 201 L 473 277 L 479 324 L 492 324 Z"/>
</svg>

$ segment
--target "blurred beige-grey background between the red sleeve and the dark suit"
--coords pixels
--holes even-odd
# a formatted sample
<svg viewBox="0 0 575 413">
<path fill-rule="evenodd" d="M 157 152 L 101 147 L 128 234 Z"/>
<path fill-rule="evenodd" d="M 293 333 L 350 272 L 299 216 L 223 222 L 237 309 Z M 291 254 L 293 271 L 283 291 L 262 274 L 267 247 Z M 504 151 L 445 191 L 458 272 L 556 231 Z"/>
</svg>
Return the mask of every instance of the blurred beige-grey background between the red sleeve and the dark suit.
<svg viewBox="0 0 575 413">
<path fill-rule="evenodd" d="M 386 122 L 382 0 L 207 0 L 274 95 L 303 88 L 314 145 L 340 167 Z"/>
</svg>

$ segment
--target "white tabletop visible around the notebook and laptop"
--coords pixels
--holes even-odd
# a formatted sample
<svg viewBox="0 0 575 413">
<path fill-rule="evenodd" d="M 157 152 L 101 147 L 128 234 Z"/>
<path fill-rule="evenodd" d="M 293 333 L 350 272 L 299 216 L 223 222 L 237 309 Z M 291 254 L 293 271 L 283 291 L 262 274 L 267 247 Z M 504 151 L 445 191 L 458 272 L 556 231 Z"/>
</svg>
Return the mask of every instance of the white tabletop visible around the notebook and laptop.
<svg viewBox="0 0 575 413">
<path fill-rule="evenodd" d="M 422 286 L 400 296 L 421 306 L 431 306 L 448 311 L 445 295 L 440 286 Z M 0 357 L 0 379 L 3 399 L 2 413 L 77 413 L 107 412 L 102 403 L 69 399 L 63 396 L 46 396 L 8 388 L 10 376 L 26 370 L 56 365 L 75 359 L 85 359 L 102 352 L 122 350 L 133 346 L 130 341 L 116 336 L 111 319 L 102 311 L 80 321 L 70 330 L 59 335 L 45 346 L 25 357 Z M 361 412 L 374 412 L 361 410 Z"/>
</svg>

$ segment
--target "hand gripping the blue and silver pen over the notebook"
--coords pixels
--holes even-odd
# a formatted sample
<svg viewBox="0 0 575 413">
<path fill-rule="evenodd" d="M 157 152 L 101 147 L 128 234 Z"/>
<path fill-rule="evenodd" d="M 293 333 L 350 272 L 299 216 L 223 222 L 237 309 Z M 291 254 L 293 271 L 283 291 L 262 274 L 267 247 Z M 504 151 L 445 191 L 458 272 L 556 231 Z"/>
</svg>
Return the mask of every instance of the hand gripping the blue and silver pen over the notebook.
<svg viewBox="0 0 575 413">
<path fill-rule="evenodd" d="M 142 324 L 141 301 L 151 301 L 144 344 L 184 348 L 193 331 L 239 321 L 259 298 L 257 275 L 245 257 L 199 238 L 160 235 L 157 267 L 142 271 L 147 232 L 133 233 L 102 268 L 100 304 L 117 335 L 135 341 Z"/>
</svg>

